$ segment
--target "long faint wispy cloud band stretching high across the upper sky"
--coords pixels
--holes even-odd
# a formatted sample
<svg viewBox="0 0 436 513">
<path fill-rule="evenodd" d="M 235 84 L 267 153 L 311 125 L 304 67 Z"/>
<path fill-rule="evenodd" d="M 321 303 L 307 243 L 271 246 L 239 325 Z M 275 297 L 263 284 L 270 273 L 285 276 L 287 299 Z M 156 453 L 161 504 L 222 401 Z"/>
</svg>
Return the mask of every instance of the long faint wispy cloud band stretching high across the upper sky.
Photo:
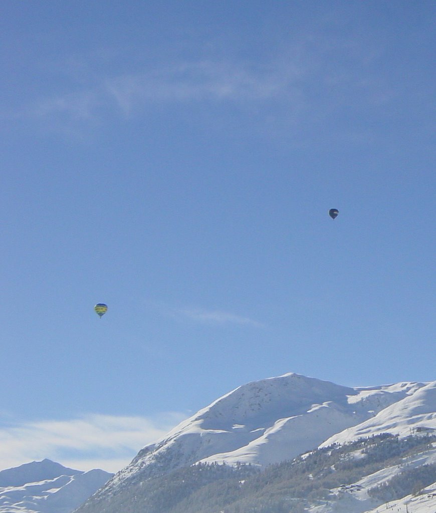
<svg viewBox="0 0 436 513">
<path fill-rule="evenodd" d="M 302 33 L 298 41 L 258 61 L 221 55 L 117 67 L 111 58 L 120 61 L 122 56 L 107 55 L 100 67 L 76 64 L 69 91 L 48 93 L 20 116 L 69 132 L 103 123 L 110 115 L 129 118 L 150 106 L 202 102 L 245 109 L 259 120 L 262 133 L 304 139 L 305 128 L 331 123 L 344 106 L 376 107 L 394 98 L 385 78 L 373 72 L 379 53 L 322 31 Z"/>
</svg>

